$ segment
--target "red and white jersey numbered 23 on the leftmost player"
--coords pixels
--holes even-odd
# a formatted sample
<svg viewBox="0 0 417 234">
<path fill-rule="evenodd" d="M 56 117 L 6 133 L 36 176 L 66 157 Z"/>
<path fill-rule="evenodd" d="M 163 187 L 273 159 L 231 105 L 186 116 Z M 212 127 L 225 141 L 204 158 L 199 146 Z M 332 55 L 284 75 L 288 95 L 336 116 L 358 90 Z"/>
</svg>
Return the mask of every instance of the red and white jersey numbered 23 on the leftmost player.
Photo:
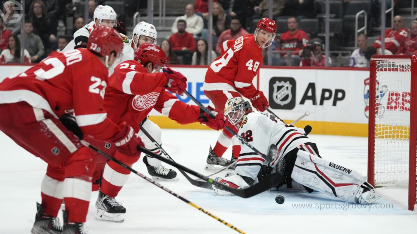
<svg viewBox="0 0 417 234">
<path fill-rule="evenodd" d="M 89 50 L 61 52 L 3 80 L 0 103 L 24 101 L 55 118 L 73 114 L 84 135 L 110 139 L 120 129 L 104 109 L 107 77 L 106 66 Z"/>
</svg>

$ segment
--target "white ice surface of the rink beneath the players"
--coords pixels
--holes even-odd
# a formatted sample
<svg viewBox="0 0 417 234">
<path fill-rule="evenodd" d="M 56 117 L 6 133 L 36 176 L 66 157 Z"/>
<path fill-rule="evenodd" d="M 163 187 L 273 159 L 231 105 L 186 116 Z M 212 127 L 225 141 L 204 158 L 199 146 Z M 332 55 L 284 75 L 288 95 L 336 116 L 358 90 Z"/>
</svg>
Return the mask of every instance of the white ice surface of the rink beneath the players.
<svg viewBox="0 0 417 234">
<path fill-rule="evenodd" d="M 20 148 L 3 132 L 0 135 L 0 232 L 30 233 L 35 219 L 36 202 L 40 202 L 40 184 L 46 163 Z M 217 135 L 213 130 L 163 129 L 163 147 L 176 162 L 207 175 L 212 173 L 203 169 L 208 147 L 215 143 Z M 366 137 L 309 136 L 317 143 L 324 159 L 366 174 Z M 230 157 L 230 149 L 225 155 Z M 148 176 L 141 159 L 133 168 Z M 371 207 L 364 207 L 339 202 L 319 192 L 309 194 L 271 190 L 248 199 L 219 197 L 212 190 L 194 187 L 178 174 L 179 181 L 160 183 L 248 234 L 411 234 L 417 230 L 417 212 L 407 210 L 406 188 L 378 188 L 377 193 L 382 198 Z M 117 197 L 127 209 L 125 222 L 118 224 L 96 221 L 94 203 L 97 194 L 93 192 L 91 196 L 87 217 L 90 233 L 237 233 L 135 174 L 131 174 Z M 284 204 L 275 202 L 278 194 L 285 197 Z"/>
</svg>

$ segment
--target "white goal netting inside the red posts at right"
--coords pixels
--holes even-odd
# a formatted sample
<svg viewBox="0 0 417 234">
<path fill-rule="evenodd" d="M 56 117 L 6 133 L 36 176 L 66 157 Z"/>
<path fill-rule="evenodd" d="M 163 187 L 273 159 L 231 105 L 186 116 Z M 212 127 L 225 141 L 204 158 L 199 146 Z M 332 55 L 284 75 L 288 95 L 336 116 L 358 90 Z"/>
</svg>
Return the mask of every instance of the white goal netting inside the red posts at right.
<svg viewBox="0 0 417 234">
<path fill-rule="evenodd" d="M 377 61 L 375 186 L 407 186 L 409 178 L 411 61 Z M 417 121 L 417 120 L 416 120 Z"/>
</svg>

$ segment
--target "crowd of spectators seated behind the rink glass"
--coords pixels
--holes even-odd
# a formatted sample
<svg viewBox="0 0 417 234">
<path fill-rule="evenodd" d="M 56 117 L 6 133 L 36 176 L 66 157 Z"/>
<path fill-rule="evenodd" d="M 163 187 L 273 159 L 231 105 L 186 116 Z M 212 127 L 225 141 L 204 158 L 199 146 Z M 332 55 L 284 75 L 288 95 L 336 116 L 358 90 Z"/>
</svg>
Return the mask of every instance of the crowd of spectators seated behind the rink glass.
<svg viewBox="0 0 417 234">
<path fill-rule="evenodd" d="M 121 0 L 119 0 L 120 2 Z M 254 22 L 261 17 L 269 16 L 268 0 L 213 0 L 213 29 L 208 31 L 208 0 L 189 2 L 184 9 L 184 15 L 178 16 L 171 27 L 172 35 L 166 40 L 159 40 L 158 45 L 167 55 L 168 64 L 208 65 L 207 55 L 214 60 L 221 54 L 225 41 L 236 39 L 248 33 L 254 33 Z M 387 9 L 391 0 L 386 1 Z M 406 0 L 407 1 L 407 0 Z M 109 1 L 106 1 L 109 2 Z M 146 0 L 124 0 L 125 15 L 118 15 L 123 21 L 126 15 L 130 17 L 132 9 L 143 7 Z M 350 48 L 352 55 L 349 66 L 367 67 L 369 57 L 381 52 L 380 38 L 368 42 L 369 36 L 377 37 L 371 27 L 381 24 L 379 10 L 381 0 L 331 0 L 331 42 L 330 50 Z M 368 35 L 359 34 L 354 38 L 352 31 L 353 2 L 366 3 L 361 7 L 369 7 Z M 397 1 L 394 1 L 394 4 Z M 399 1 L 398 1 L 399 2 Z M 1 63 L 20 61 L 20 41 L 24 37 L 25 62 L 40 62 L 51 53 L 59 52 L 73 39 L 73 33 L 93 20 L 93 12 L 97 5 L 103 5 L 104 0 L 88 1 L 88 19 L 85 20 L 84 10 L 79 10 L 84 3 L 80 0 L 26 0 L 24 33 L 20 35 L 20 22 L 10 23 L 14 3 L 2 1 L 2 5 L 12 12 L 8 19 L 1 19 Z M 358 5 L 359 6 L 359 5 Z M 146 7 L 146 5 L 145 5 Z M 350 7 L 350 8 L 349 8 Z M 355 8 L 356 9 L 356 8 Z M 359 9 L 359 8 L 357 8 Z M 395 9 L 395 8 L 394 8 Z M 6 12 L 5 9 L 2 9 Z M 353 10 L 353 13 L 357 11 Z M 116 13 L 117 10 L 116 10 Z M 276 20 L 279 32 L 271 45 L 271 65 L 280 66 L 324 66 L 324 0 L 273 0 L 272 15 Z M 67 22 L 71 16 L 72 22 Z M 387 15 L 389 17 L 389 14 Z M 58 21 L 64 24 L 72 23 L 70 35 L 58 35 Z M 387 19 L 390 22 L 391 19 Z M 343 22 L 342 27 L 339 27 Z M 392 20 L 393 27 L 385 33 L 385 53 L 416 54 L 417 53 L 417 21 L 404 25 L 404 19 L 397 15 Z M 347 24 L 347 25 L 345 25 Z M 120 26 L 120 25 L 119 25 Z M 130 25 L 133 26 L 133 25 Z M 390 23 L 388 23 L 390 26 Z M 68 26 L 67 26 L 68 27 Z M 126 34 L 124 25 L 122 33 Z M 354 28 L 354 27 L 353 27 Z M 350 30 L 350 31 L 349 31 Z M 208 51 L 208 37 L 212 36 L 212 51 Z M 354 48 L 357 40 L 358 48 Z M 369 45 L 372 44 L 372 45 Z M 356 50 L 354 50 L 354 49 Z M 268 61 L 269 53 L 265 50 L 264 64 Z M 329 58 L 329 65 L 332 60 Z"/>
</svg>

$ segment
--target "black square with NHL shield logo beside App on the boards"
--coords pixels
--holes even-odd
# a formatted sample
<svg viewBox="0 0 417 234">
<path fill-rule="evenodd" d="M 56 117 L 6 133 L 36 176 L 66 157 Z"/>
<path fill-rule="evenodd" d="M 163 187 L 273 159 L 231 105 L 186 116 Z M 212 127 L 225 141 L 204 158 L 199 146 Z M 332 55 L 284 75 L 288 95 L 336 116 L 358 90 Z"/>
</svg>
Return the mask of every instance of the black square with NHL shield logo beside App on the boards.
<svg viewBox="0 0 417 234">
<path fill-rule="evenodd" d="M 296 82 L 292 77 L 269 80 L 269 105 L 272 109 L 292 110 L 295 107 Z"/>
</svg>

